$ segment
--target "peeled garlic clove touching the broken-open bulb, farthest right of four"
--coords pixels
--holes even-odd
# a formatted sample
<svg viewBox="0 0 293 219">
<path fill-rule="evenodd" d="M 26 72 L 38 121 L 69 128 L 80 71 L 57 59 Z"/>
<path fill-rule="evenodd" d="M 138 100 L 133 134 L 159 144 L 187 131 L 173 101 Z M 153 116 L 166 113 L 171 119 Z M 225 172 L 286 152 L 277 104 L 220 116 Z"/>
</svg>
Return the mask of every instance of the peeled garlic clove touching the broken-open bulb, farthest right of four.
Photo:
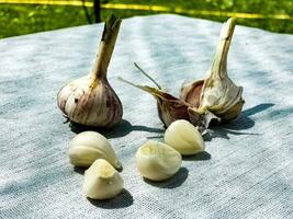
<svg viewBox="0 0 293 219">
<path fill-rule="evenodd" d="M 165 132 L 165 142 L 182 155 L 196 154 L 204 151 L 204 141 L 200 131 L 188 120 L 173 122 Z"/>
</svg>

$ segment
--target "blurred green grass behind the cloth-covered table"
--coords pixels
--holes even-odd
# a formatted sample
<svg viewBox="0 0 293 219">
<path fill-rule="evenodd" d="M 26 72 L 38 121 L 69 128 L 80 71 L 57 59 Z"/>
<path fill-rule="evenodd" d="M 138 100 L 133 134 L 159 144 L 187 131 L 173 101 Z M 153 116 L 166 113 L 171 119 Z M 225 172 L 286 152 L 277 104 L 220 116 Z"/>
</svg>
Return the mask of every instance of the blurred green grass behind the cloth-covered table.
<svg viewBox="0 0 293 219">
<path fill-rule="evenodd" d="M 102 3 L 155 4 L 180 7 L 182 9 L 228 11 L 260 14 L 289 14 L 293 16 L 293 0 L 109 0 Z M 88 8 L 94 21 L 93 9 Z M 114 13 L 121 18 L 155 14 L 151 11 L 102 10 L 102 21 Z M 184 14 L 183 15 L 189 15 Z M 190 15 L 189 15 L 190 16 Z M 198 15 L 194 18 L 225 21 L 226 16 Z M 292 20 L 238 19 L 239 24 L 259 27 L 272 32 L 293 34 Z M 42 5 L 42 4 L 0 4 L 0 38 L 35 32 L 56 30 L 88 24 L 82 7 Z"/>
</svg>

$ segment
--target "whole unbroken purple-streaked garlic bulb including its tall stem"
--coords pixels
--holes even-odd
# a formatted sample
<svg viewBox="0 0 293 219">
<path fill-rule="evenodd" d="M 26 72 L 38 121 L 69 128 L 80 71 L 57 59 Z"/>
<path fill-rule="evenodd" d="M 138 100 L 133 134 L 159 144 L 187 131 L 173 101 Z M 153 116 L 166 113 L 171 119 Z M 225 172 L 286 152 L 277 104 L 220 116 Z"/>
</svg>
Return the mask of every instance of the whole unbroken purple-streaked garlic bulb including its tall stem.
<svg viewBox="0 0 293 219">
<path fill-rule="evenodd" d="M 100 49 L 90 76 L 76 79 L 58 93 L 65 117 L 77 124 L 110 128 L 122 120 L 122 104 L 106 79 L 106 69 L 119 34 L 121 19 L 111 16 L 104 26 Z"/>
</svg>

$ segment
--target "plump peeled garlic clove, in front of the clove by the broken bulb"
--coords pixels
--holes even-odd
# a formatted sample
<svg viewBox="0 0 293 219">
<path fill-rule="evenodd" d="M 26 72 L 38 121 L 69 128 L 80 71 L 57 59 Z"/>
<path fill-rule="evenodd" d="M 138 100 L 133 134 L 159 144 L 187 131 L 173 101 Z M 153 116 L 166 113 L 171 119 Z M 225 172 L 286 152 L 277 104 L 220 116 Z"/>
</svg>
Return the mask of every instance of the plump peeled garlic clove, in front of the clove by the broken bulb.
<svg viewBox="0 0 293 219">
<path fill-rule="evenodd" d="M 181 154 L 170 146 L 149 140 L 136 152 L 140 174 L 151 181 L 164 181 L 174 175 L 181 166 Z"/>
</svg>

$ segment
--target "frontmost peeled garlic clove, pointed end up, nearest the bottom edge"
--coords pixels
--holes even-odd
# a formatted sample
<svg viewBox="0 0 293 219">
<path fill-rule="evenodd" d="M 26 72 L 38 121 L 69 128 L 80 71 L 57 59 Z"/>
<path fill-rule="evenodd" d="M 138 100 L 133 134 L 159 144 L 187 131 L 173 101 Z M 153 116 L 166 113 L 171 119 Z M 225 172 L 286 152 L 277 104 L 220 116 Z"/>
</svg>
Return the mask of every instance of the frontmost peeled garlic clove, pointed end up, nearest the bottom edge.
<svg viewBox="0 0 293 219">
<path fill-rule="evenodd" d="M 123 178 L 105 160 L 98 159 L 84 172 L 83 193 L 93 199 L 108 199 L 123 188 Z"/>
</svg>

